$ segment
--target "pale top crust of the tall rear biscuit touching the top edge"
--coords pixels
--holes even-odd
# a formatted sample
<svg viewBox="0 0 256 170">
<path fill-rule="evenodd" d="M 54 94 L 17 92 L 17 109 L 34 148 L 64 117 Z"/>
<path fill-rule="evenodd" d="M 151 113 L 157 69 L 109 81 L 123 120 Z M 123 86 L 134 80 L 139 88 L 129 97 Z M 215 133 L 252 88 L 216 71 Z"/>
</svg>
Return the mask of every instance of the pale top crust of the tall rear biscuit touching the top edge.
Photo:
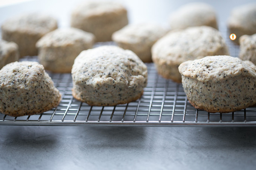
<svg viewBox="0 0 256 170">
<path fill-rule="evenodd" d="M 73 10 L 73 15 L 79 14 L 84 17 L 97 17 L 105 14 L 115 14 L 119 11 L 126 12 L 126 9 L 117 2 L 88 1 L 77 6 L 77 8 Z"/>
</svg>

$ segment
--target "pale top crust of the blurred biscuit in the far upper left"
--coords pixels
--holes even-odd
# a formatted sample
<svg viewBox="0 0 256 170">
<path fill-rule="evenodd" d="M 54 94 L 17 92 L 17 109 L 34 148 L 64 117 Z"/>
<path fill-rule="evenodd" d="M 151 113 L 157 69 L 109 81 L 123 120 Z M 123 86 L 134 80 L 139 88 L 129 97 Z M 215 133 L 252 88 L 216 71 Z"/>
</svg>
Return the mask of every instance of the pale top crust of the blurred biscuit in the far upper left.
<svg viewBox="0 0 256 170">
<path fill-rule="evenodd" d="M 26 32 L 44 35 L 57 28 L 57 21 L 49 15 L 30 13 L 9 18 L 2 24 L 2 29 L 10 32 Z"/>
</svg>

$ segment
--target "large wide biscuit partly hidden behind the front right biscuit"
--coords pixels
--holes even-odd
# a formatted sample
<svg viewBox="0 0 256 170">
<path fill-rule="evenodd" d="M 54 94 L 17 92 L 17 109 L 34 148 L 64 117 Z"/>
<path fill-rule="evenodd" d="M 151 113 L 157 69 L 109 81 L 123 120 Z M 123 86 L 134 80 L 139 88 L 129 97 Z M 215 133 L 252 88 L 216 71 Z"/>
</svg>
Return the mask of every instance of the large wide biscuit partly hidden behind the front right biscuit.
<svg viewBox="0 0 256 170">
<path fill-rule="evenodd" d="M 178 66 L 182 62 L 215 55 L 229 55 L 229 50 L 218 30 L 208 26 L 172 31 L 152 47 L 158 73 L 177 83 L 181 83 Z"/>
</svg>

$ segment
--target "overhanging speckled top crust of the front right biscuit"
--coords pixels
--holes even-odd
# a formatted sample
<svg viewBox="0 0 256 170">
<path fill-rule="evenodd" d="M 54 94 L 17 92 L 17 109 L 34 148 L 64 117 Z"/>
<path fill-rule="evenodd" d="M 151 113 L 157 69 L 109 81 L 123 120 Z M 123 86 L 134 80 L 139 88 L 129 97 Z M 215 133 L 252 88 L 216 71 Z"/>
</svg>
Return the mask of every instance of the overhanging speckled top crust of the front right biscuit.
<svg viewBox="0 0 256 170">
<path fill-rule="evenodd" d="M 256 77 L 255 70 L 241 59 L 231 56 L 207 56 L 189 60 L 179 66 L 180 74 L 198 81 L 221 81 L 236 76 Z"/>
</svg>

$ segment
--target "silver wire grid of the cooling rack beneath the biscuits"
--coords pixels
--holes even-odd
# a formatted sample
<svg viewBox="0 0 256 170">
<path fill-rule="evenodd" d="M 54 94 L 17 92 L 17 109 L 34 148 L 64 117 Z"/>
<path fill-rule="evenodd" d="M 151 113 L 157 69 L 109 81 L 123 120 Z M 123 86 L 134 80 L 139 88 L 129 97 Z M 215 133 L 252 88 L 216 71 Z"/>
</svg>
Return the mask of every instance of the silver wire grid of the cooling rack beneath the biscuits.
<svg viewBox="0 0 256 170">
<path fill-rule="evenodd" d="M 221 30 L 229 45 L 230 55 L 238 57 L 239 46 L 229 40 L 226 28 Z M 37 61 L 37 57 L 23 60 Z M 77 101 L 72 96 L 71 74 L 48 72 L 62 94 L 58 107 L 32 116 L 0 114 L 0 125 L 256 126 L 256 107 L 225 114 L 195 109 L 188 102 L 181 84 L 162 78 L 153 63 L 146 65 L 148 85 L 143 96 L 137 101 L 114 107 L 90 106 Z"/>
</svg>

